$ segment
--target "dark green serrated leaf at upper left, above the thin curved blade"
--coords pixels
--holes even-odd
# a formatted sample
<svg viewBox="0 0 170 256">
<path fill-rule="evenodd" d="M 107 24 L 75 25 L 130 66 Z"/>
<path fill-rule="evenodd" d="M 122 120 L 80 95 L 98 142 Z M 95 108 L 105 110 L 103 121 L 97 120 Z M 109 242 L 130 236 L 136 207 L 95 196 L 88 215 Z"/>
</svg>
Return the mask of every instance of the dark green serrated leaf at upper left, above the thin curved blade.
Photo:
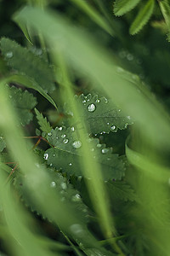
<svg viewBox="0 0 170 256">
<path fill-rule="evenodd" d="M 8 38 L 0 40 L 0 49 L 9 67 L 35 80 L 46 93 L 55 89 L 53 70 L 42 58 Z"/>
</svg>

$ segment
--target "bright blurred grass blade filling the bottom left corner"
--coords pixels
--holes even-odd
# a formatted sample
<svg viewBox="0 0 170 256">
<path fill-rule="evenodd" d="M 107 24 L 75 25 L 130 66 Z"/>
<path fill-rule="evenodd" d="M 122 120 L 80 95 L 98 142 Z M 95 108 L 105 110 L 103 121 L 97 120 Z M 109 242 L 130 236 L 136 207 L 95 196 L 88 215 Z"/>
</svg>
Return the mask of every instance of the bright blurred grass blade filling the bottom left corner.
<svg viewBox="0 0 170 256">
<path fill-rule="evenodd" d="M 20 244 L 20 249 L 14 252 L 13 255 L 46 256 L 47 253 L 49 256 L 54 255 L 54 253 L 50 253 L 48 248 L 47 251 L 44 250 L 45 247 L 42 247 L 41 244 L 37 242 L 37 237 L 28 229 L 29 223 L 33 225 L 33 220 L 28 216 L 26 210 L 20 207 L 18 202 L 14 201 L 14 196 L 12 196 L 14 192 L 10 189 L 10 183 L 5 184 L 5 177 L 3 176 L 2 170 L 0 170 L 0 188 L 0 198 L 3 202 L 3 212 L 5 221 L 8 224 L 8 231 L 14 237 L 14 240 Z M 14 251 L 15 249 L 16 247 L 14 247 Z"/>
</svg>

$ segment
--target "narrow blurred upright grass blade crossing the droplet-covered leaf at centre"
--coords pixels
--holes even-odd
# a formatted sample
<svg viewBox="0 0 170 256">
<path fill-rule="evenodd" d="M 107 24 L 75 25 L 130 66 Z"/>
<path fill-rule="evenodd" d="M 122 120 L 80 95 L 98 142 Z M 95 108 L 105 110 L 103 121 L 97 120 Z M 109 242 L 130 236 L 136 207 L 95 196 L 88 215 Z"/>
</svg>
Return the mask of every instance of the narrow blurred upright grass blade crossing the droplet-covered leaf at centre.
<svg viewBox="0 0 170 256">
<path fill-rule="evenodd" d="M 67 96 L 70 99 L 71 106 L 73 107 L 74 116 L 76 119 L 79 119 L 81 116 L 81 111 L 79 110 L 79 105 L 73 98 L 73 91 L 71 89 L 71 79 L 69 78 L 69 74 L 67 71 L 67 67 L 65 66 L 65 59 L 63 55 L 60 54 L 59 49 L 56 49 L 56 64 L 59 63 L 59 67 L 61 72 L 63 73 L 63 83 L 67 89 Z M 58 61 L 57 61 L 58 60 Z M 116 236 L 116 229 L 113 225 L 113 218 L 111 218 L 110 207 L 108 205 L 107 195 L 105 191 L 105 187 L 102 183 L 102 174 L 100 170 L 100 166 L 97 161 L 94 161 L 93 156 L 91 154 L 91 148 L 89 147 L 89 143 L 87 140 L 86 134 L 88 133 L 86 123 L 84 119 L 82 119 L 82 127 L 83 129 L 79 129 L 79 135 L 82 142 L 82 154 L 83 158 L 81 160 L 82 170 L 84 175 L 89 177 L 87 179 L 87 185 L 89 190 L 89 195 L 94 204 L 94 208 L 96 213 L 99 216 L 99 223 L 101 225 L 101 229 L 103 230 L 106 237 L 111 238 L 113 235 Z M 124 255 L 120 247 L 117 246 L 116 242 L 113 242 L 112 246 L 120 255 Z"/>
</svg>

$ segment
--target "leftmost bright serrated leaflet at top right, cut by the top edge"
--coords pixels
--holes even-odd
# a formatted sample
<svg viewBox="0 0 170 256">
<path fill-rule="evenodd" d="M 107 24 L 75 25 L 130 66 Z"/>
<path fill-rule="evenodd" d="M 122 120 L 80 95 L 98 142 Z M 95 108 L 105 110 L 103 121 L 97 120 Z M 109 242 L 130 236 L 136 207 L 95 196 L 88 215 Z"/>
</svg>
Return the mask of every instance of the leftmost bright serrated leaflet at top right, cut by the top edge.
<svg viewBox="0 0 170 256">
<path fill-rule="evenodd" d="M 122 16 L 133 9 L 140 0 L 116 0 L 113 5 L 114 14 Z"/>
</svg>

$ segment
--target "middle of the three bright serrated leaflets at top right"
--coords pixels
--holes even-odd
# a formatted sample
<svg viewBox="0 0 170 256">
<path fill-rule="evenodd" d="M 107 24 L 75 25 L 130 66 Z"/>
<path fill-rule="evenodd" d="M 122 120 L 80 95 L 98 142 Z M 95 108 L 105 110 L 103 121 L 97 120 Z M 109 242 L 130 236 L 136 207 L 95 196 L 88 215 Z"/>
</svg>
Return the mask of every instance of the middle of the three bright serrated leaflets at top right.
<svg viewBox="0 0 170 256">
<path fill-rule="evenodd" d="M 142 9 L 139 10 L 138 15 L 135 20 L 133 20 L 133 24 L 130 26 L 130 34 L 134 35 L 138 33 L 143 26 L 150 20 L 150 16 L 153 13 L 155 6 L 155 0 L 149 0 Z"/>
</svg>

